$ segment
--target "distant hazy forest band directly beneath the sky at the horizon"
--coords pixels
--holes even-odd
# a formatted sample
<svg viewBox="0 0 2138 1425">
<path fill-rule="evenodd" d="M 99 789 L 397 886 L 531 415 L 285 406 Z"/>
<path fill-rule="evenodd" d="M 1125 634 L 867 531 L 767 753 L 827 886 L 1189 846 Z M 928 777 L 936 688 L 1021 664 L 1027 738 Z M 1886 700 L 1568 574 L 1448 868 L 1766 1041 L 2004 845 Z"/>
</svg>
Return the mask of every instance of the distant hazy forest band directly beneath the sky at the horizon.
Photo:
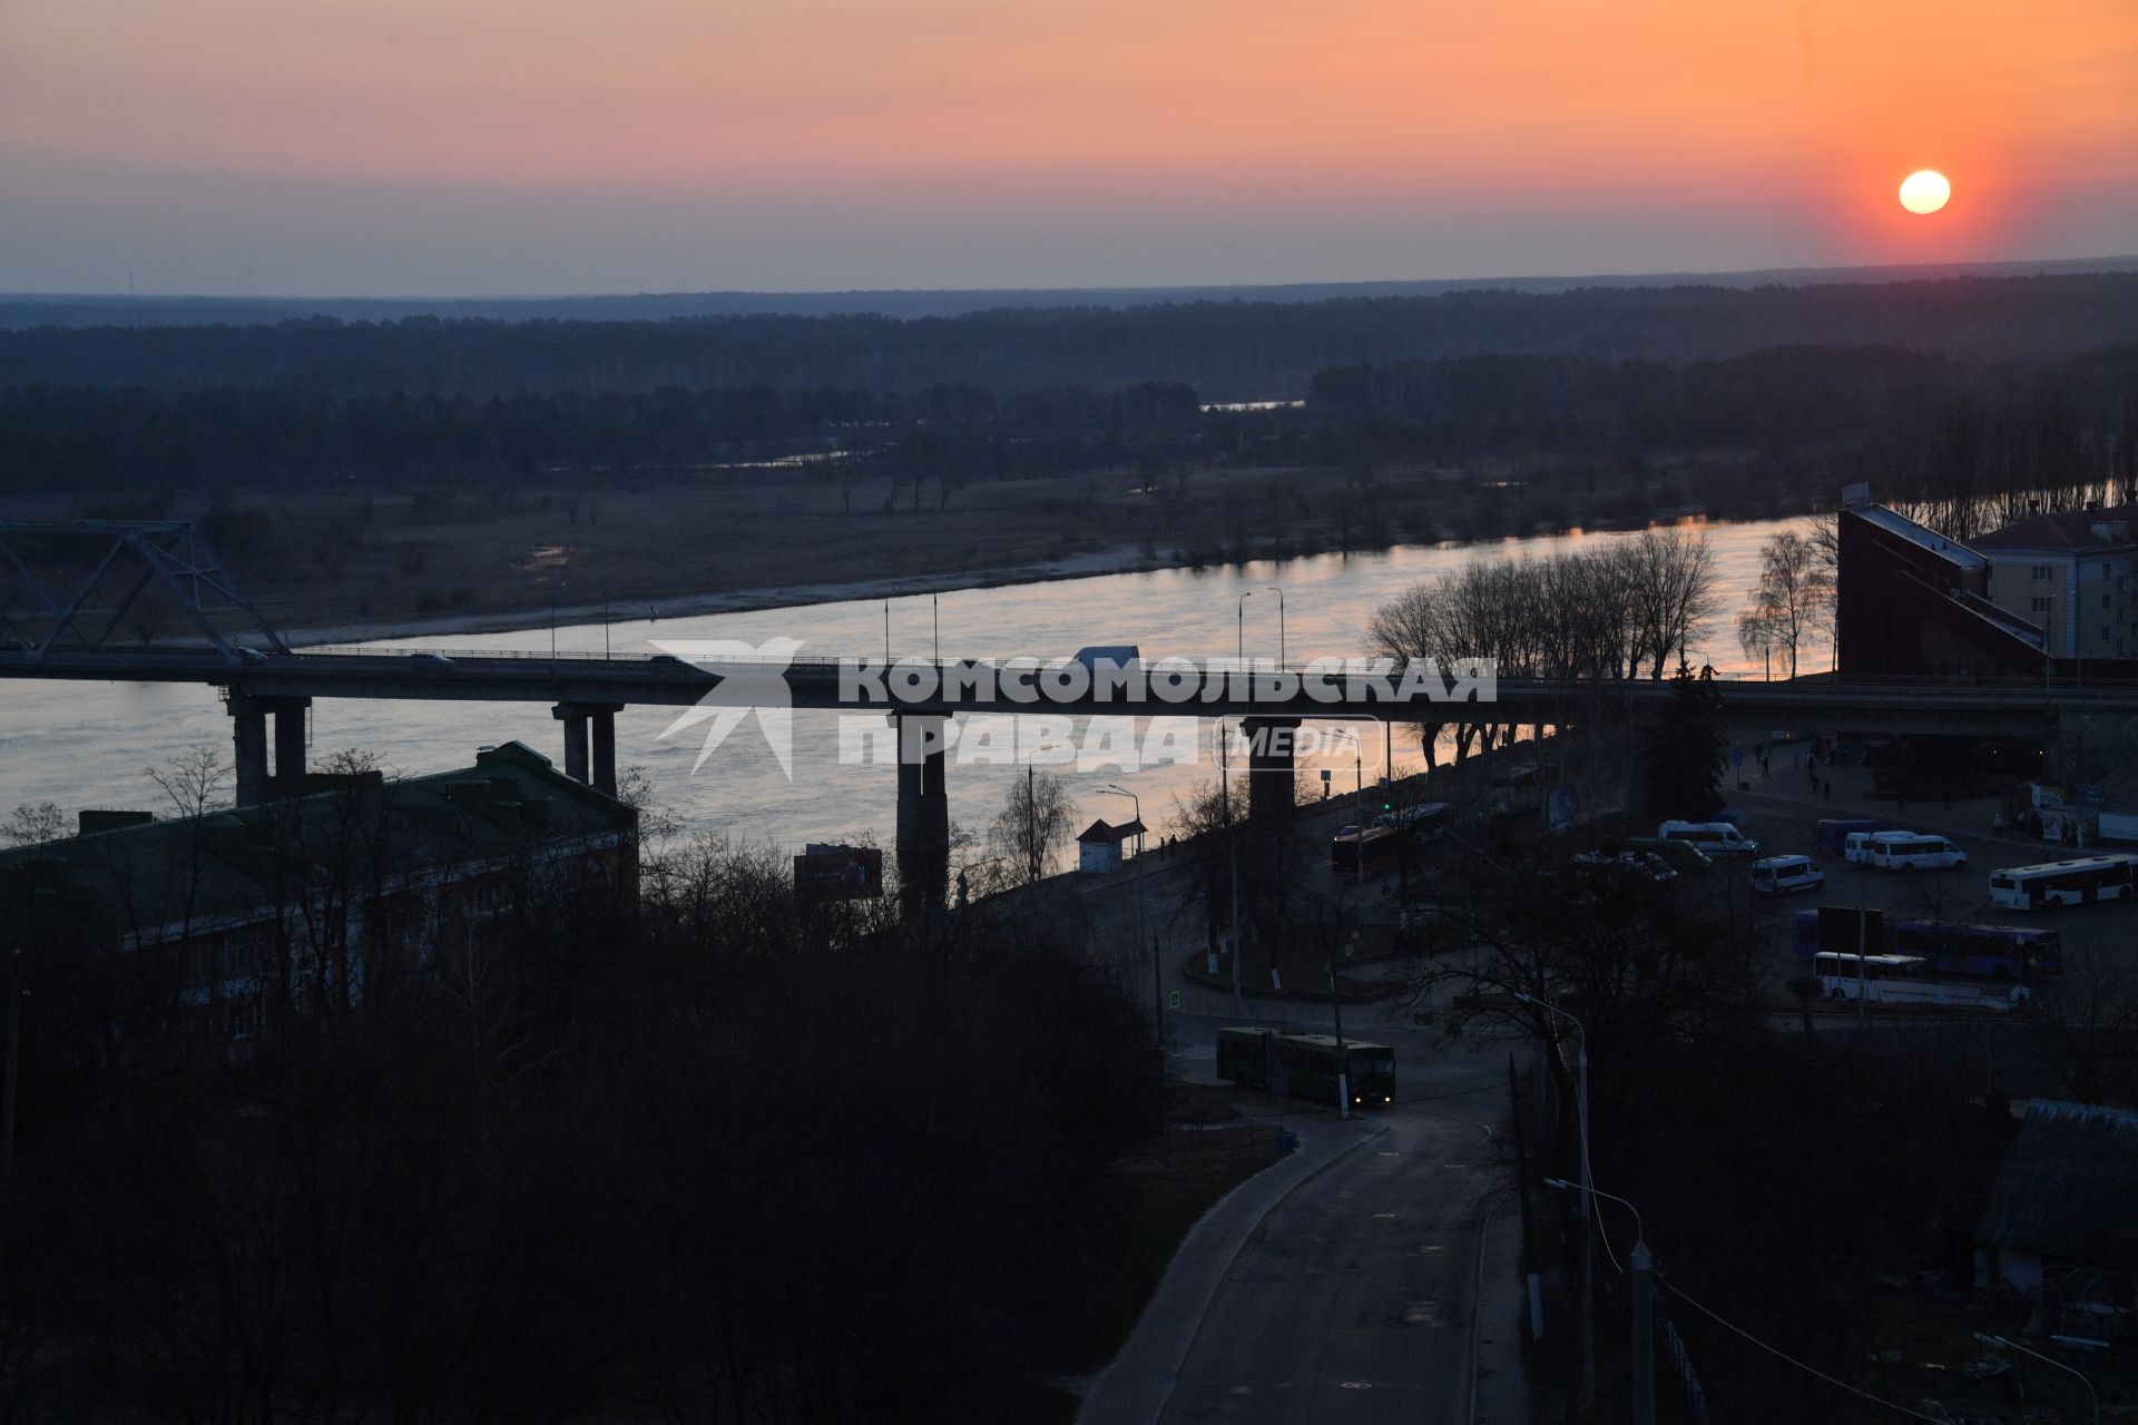
<svg viewBox="0 0 2138 1425">
<path fill-rule="evenodd" d="M 408 316 L 0 331 L 0 387 L 291 387 L 351 393 L 750 387 L 994 391 L 1187 380 L 1293 395 L 1321 367 L 1482 353 L 1691 361 L 1764 346 L 2046 359 L 2138 340 L 2138 273 L 1811 286 L 1458 291 L 1326 301 L 887 316 L 477 320 Z"/>
</svg>

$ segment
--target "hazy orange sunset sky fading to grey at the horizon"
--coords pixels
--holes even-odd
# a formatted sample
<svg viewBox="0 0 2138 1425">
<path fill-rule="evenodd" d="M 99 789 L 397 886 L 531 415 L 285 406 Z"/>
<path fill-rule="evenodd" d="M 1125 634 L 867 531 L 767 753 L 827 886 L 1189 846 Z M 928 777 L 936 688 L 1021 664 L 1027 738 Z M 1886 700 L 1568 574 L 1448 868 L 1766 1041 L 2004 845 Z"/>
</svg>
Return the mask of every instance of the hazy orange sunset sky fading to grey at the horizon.
<svg viewBox="0 0 2138 1425">
<path fill-rule="evenodd" d="M 2138 4 L 0 0 L 0 184 L 17 291 L 2134 252 Z"/>
</svg>

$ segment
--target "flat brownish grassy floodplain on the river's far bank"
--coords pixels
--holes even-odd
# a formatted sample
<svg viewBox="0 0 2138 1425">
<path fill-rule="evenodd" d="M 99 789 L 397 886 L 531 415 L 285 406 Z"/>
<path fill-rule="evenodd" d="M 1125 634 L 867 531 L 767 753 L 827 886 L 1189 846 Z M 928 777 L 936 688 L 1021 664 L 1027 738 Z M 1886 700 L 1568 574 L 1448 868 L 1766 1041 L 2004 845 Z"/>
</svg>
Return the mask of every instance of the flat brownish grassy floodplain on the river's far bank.
<svg viewBox="0 0 2138 1425">
<path fill-rule="evenodd" d="M 41 496 L 0 513 L 242 511 L 216 543 L 254 605 L 278 628 L 351 639 L 534 626 L 552 607 L 590 622 L 1599 523 L 1503 489 L 1524 481 L 1477 494 L 1492 474 L 1195 468 L 915 487 L 785 468 L 552 472 Z M 1685 476 L 1676 487 L 1698 487 Z"/>
</svg>

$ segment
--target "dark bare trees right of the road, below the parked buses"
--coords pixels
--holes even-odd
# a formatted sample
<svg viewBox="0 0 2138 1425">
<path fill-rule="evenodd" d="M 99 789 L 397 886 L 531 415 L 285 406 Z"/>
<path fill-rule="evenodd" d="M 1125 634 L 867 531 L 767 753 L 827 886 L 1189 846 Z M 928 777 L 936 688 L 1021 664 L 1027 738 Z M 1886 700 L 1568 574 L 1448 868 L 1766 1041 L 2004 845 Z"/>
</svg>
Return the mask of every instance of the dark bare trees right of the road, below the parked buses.
<svg viewBox="0 0 2138 1425">
<path fill-rule="evenodd" d="M 1473 855 L 1428 910 L 1435 953 L 1415 989 L 1454 1032 L 1512 1025 L 1544 1049 L 1518 1058 L 1531 1068 L 1503 1137 L 1520 1145 L 1503 1162 L 1529 1265 L 1548 1278 L 1546 1393 L 1580 1393 L 1584 1224 L 1546 1179 L 1580 1177 L 1586 1049 L 1595 1186 L 1640 1211 L 1657 1314 L 1708 1419 L 1873 1419 L 1845 1408 L 1847 1389 L 1916 1404 L 1920 1382 L 1888 1372 L 1886 1352 L 1924 1359 L 1922 1303 L 1967 1290 L 1967 1239 L 2014 1128 L 1997 1100 L 2014 1036 L 1770 1028 L 1740 914 L 1725 872 L 1657 882 L 1535 844 Z M 1597 1224 L 1599 1393 L 1582 1419 L 1623 1421 L 1636 1226 L 1608 1201 Z M 1950 1320 L 1967 1342 L 1986 1316 Z M 1691 1419 L 1668 1357 L 1657 1372 L 1661 1419 Z M 1539 1416 L 1561 1404 L 1539 1399 Z"/>
</svg>

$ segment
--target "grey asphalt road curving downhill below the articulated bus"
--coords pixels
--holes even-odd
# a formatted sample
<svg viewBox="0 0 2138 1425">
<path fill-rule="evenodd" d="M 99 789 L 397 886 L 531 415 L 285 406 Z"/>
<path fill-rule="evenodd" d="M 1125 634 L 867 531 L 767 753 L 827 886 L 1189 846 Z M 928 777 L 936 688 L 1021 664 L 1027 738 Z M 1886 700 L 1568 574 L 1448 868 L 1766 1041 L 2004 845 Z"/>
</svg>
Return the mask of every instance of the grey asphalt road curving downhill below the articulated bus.
<svg viewBox="0 0 2138 1425">
<path fill-rule="evenodd" d="M 1212 1079 L 1217 1017 L 1178 1017 L 1176 1068 Z M 1396 1047 L 1385 1132 L 1261 1220 L 1219 1284 L 1161 1421 L 1467 1419 L 1492 1134 L 1509 1040 L 1443 1045 L 1366 1021 Z M 1298 1105 L 1291 1105 L 1298 1107 Z"/>
</svg>

